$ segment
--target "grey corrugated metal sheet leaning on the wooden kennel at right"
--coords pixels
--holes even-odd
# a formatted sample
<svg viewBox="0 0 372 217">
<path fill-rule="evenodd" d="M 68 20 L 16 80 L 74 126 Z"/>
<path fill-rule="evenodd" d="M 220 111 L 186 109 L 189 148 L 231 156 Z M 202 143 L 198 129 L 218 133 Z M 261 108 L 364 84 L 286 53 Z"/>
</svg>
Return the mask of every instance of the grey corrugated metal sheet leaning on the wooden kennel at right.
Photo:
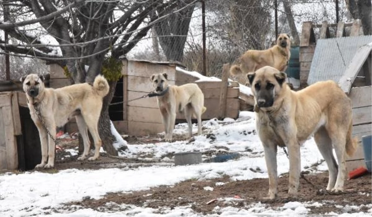
<svg viewBox="0 0 372 217">
<path fill-rule="evenodd" d="M 320 80 L 339 82 L 358 48 L 370 42 L 372 35 L 318 39 L 307 83 Z"/>
</svg>

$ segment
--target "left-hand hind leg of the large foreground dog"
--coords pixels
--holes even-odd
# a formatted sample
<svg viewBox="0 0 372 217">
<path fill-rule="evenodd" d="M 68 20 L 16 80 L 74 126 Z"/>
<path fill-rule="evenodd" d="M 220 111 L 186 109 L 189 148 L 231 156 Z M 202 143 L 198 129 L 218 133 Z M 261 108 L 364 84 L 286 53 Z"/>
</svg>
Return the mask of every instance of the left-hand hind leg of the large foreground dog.
<svg viewBox="0 0 372 217">
<path fill-rule="evenodd" d="M 330 191 L 334 187 L 337 178 L 337 163 L 332 152 L 332 141 L 324 127 L 321 127 L 314 134 L 314 140 L 328 166 L 329 178 L 327 191 Z"/>
</svg>

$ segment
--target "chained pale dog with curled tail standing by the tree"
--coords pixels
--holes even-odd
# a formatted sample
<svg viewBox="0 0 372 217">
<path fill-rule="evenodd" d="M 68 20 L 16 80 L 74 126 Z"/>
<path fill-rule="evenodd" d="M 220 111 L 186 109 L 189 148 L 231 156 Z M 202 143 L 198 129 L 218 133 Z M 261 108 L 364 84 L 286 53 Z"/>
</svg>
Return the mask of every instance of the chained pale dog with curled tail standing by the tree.
<svg viewBox="0 0 372 217">
<path fill-rule="evenodd" d="M 78 158 L 84 160 L 89 152 L 87 129 L 94 140 L 95 153 L 88 160 L 99 157 L 101 139 L 98 134 L 98 119 L 102 108 L 102 99 L 109 92 L 109 84 L 103 76 L 94 79 L 93 86 L 88 83 L 73 84 L 53 89 L 44 86 L 44 78 L 37 74 L 29 74 L 20 79 L 26 92 L 28 107 L 33 122 L 39 130 L 41 140 L 41 163 L 35 168 L 54 167 L 55 143 L 42 125 L 35 107 L 39 109 L 41 118 L 48 131 L 55 138 L 56 127 L 62 127 L 71 117 L 76 117 L 76 123 L 84 141 L 84 152 Z M 47 163 L 48 159 L 48 163 Z"/>
</svg>

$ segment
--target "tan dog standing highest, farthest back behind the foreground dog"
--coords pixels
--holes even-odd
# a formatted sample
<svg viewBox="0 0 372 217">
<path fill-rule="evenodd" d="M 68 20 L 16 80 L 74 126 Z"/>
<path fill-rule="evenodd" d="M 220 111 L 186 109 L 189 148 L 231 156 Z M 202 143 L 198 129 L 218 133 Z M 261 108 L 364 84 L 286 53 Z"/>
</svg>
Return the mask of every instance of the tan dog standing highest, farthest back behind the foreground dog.
<svg viewBox="0 0 372 217">
<path fill-rule="evenodd" d="M 261 67 L 271 66 L 285 71 L 291 57 L 291 39 L 288 34 L 279 34 L 276 45 L 267 50 L 248 50 L 230 68 L 233 76 L 255 72 Z"/>
</svg>

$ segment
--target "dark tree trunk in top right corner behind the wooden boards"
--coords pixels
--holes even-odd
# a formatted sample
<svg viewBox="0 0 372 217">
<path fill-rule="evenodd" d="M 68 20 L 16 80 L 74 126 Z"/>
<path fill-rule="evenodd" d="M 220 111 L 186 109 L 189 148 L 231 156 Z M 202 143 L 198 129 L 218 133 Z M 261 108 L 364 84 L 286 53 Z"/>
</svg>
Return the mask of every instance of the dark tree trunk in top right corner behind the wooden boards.
<svg viewBox="0 0 372 217">
<path fill-rule="evenodd" d="M 372 35 L 371 0 L 345 0 L 347 9 L 354 19 L 362 20 L 363 34 Z"/>
</svg>

